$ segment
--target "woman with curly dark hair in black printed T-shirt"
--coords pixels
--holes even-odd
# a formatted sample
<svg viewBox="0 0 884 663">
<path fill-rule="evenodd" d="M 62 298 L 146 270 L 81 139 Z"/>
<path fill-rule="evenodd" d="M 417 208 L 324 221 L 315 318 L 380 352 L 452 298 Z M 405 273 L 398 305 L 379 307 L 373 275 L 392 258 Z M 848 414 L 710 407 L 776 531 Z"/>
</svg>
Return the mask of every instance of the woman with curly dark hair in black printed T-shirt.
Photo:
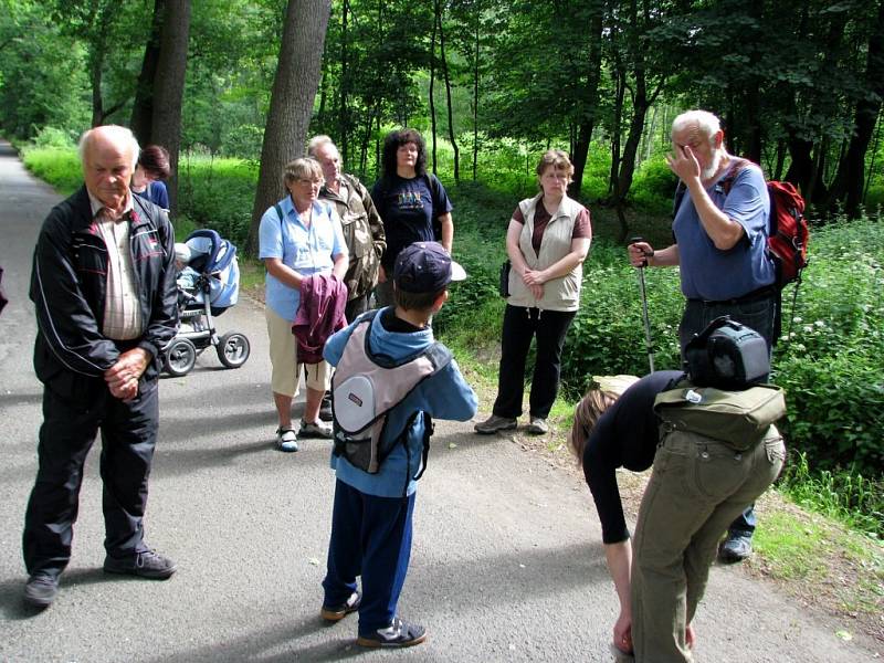
<svg viewBox="0 0 884 663">
<path fill-rule="evenodd" d="M 454 241 L 451 201 L 442 182 L 427 172 L 427 147 L 414 129 L 390 131 L 383 139 L 382 173 L 371 200 L 387 235 L 375 298 L 378 306 L 389 306 L 393 295 L 388 276 L 399 252 L 413 242 L 435 241 L 451 253 Z"/>
</svg>

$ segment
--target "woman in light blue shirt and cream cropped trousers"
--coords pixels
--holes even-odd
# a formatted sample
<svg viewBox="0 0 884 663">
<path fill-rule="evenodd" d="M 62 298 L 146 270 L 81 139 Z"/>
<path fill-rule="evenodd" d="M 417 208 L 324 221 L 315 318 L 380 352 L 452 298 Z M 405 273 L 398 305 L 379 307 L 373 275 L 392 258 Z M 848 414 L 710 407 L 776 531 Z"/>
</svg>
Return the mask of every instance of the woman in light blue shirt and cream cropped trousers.
<svg viewBox="0 0 884 663">
<path fill-rule="evenodd" d="M 301 283 L 314 274 L 344 278 L 347 246 L 335 207 L 318 200 L 323 169 L 314 159 L 295 159 L 283 176 L 290 194 L 267 209 L 259 227 L 259 257 L 267 270 L 265 317 L 270 336 L 271 388 L 280 425 L 276 443 L 297 451 L 297 438 L 332 438 L 319 419 L 319 404 L 329 387 L 328 364 L 305 364 L 306 404 L 301 428 L 292 429 L 292 400 L 297 394 L 301 364 L 292 324 L 301 306 Z"/>
</svg>

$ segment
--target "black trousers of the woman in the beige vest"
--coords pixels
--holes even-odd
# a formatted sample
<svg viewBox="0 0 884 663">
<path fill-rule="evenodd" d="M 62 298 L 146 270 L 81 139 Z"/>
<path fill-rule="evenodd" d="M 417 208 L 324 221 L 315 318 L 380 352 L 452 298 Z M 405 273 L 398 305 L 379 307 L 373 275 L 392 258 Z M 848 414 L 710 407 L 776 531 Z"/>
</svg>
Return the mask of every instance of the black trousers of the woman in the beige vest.
<svg viewBox="0 0 884 663">
<path fill-rule="evenodd" d="M 537 360 L 528 399 L 532 417 L 546 419 L 556 402 L 561 375 L 561 349 L 565 335 L 577 312 L 541 311 L 506 305 L 501 335 L 501 369 L 497 373 L 497 400 L 494 413 L 515 419 L 522 414 L 525 392 L 525 361 L 532 338 L 537 338 Z"/>
</svg>

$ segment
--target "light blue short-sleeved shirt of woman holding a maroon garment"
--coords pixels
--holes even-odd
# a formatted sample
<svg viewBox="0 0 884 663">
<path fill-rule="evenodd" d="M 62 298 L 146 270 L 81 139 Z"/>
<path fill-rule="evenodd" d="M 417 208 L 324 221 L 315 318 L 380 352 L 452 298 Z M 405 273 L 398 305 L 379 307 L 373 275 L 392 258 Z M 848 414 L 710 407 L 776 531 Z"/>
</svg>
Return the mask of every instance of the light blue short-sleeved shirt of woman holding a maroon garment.
<svg viewBox="0 0 884 663">
<path fill-rule="evenodd" d="M 261 217 L 257 230 L 259 257 L 278 257 L 302 276 L 330 272 L 335 257 L 347 254 L 335 206 L 323 200 L 315 201 L 313 220 L 307 228 L 290 196 L 277 204 L 284 220 L 280 219 L 274 207 Z M 301 305 L 301 292 L 267 273 L 264 302 L 276 315 L 294 322 Z"/>
</svg>

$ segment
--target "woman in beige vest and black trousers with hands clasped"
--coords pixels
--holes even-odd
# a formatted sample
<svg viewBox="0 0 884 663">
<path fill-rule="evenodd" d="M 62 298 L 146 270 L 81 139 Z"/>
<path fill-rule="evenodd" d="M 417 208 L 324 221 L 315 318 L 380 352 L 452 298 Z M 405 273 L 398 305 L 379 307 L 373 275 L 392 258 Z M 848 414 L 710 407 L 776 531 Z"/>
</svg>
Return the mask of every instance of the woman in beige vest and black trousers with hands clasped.
<svg viewBox="0 0 884 663">
<path fill-rule="evenodd" d="M 525 431 L 546 433 L 556 400 L 565 335 L 580 307 L 582 264 L 592 230 L 589 211 L 568 198 L 573 175 L 568 155 L 550 149 L 537 165 L 540 193 L 518 203 L 506 231 L 509 297 L 504 313 L 497 399 L 492 415 L 475 425 L 478 433 L 513 430 L 522 414 L 525 360 L 537 338 Z"/>
</svg>

